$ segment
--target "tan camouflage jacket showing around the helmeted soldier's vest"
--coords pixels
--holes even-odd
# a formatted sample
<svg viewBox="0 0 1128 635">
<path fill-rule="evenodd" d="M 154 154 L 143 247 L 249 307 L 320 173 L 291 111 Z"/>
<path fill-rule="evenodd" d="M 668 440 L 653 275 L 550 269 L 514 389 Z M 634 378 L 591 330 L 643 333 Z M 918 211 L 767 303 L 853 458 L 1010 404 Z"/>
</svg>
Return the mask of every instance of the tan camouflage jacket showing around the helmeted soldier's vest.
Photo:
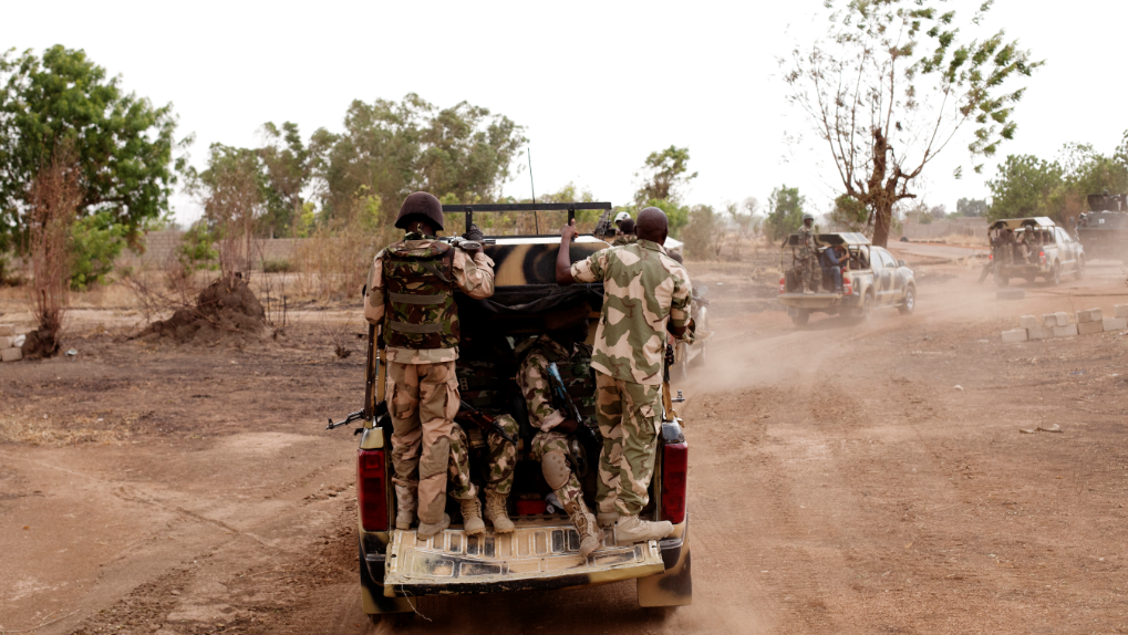
<svg viewBox="0 0 1128 635">
<path fill-rule="evenodd" d="M 438 240 L 404 240 L 390 245 L 387 249 L 381 249 L 372 258 L 372 268 L 368 274 L 368 292 L 364 294 L 364 318 L 371 324 L 381 324 L 385 320 L 388 305 L 391 300 L 387 281 L 384 279 L 385 257 L 389 249 L 397 249 L 400 253 L 420 253 L 431 249 Z M 446 244 L 443 244 L 446 245 Z M 470 298 L 483 299 L 493 296 L 493 261 L 483 253 L 476 254 L 473 258 L 461 250 L 455 249 L 455 255 L 450 261 L 450 271 L 453 274 L 453 286 L 462 291 Z M 440 267 L 441 268 L 441 267 Z M 408 283 L 411 286 L 411 283 Z M 389 316 L 389 320 L 393 319 Z M 385 325 L 385 333 L 387 333 Z M 402 364 L 433 364 L 452 362 L 458 359 L 458 346 L 449 342 L 439 347 L 413 349 L 407 346 L 391 346 L 386 349 L 387 361 Z"/>
</svg>

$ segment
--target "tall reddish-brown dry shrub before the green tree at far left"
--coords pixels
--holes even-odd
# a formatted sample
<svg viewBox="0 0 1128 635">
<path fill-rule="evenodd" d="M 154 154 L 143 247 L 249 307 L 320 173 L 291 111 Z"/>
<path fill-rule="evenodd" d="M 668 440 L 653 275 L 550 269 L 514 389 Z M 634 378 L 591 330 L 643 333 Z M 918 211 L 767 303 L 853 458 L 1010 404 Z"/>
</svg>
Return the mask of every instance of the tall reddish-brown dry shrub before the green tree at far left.
<svg viewBox="0 0 1128 635">
<path fill-rule="evenodd" d="M 28 305 L 38 329 L 29 336 L 29 356 L 59 351 L 70 277 L 70 233 L 82 202 L 79 168 L 70 145 L 60 145 L 32 183 L 27 206 L 27 254 L 32 283 Z"/>
</svg>

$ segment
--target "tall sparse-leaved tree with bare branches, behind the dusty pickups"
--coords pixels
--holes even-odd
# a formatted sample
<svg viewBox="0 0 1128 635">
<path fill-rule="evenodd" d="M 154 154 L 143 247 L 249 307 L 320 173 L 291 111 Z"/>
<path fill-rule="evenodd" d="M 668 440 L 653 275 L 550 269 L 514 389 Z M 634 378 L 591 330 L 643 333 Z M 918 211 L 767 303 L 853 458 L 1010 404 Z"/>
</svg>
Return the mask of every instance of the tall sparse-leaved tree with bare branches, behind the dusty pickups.
<svg viewBox="0 0 1128 635">
<path fill-rule="evenodd" d="M 972 127 L 975 161 L 1014 136 L 1012 115 L 1024 90 L 1015 80 L 1042 64 L 1002 30 L 967 42 L 955 11 L 942 11 L 942 2 L 827 0 L 827 36 L 796 48 L 785 78 L 791 102 L 827 144 L 845 194 L 870 210 L 874 245 L 887 244 L 893 205 L 917 196 L 910 186 L 964 126 Z"/>
</svg>

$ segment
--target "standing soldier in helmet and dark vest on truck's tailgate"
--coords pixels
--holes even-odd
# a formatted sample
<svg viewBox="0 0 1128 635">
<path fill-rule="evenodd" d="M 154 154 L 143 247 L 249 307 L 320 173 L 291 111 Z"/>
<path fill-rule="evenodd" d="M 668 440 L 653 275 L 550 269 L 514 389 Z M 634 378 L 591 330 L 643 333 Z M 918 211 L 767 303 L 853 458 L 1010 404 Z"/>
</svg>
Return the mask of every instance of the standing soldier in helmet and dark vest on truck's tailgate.
<svg viewBox="0 0 1128 635">
<path fill-rule="evenodd" d="M 418 536 L 429 538 L 450 524 L 443 510 L 459 400 L 455 289 L 470 298 L 493 296 L 493 261 L 481 246 L 467 252 L 434 239 L 442 230 L 442 205 L 425 192 L 404 200 L 396 227 L 407 235 L 372 259 L 364 317 L 384 324 L 396 528 L 408 529 L 417 509 Z M 467 526 L 475 519 L 481 524 L 477 497 L 460 503 Z"/>
</svg>

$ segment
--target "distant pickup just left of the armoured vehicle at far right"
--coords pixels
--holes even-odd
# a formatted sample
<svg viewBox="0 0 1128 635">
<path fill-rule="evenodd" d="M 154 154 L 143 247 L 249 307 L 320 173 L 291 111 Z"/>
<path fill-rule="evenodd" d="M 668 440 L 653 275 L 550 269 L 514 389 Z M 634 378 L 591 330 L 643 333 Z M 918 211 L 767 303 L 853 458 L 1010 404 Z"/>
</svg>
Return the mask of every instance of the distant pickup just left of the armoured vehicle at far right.
<svg viewBox="0 0 1128 635">
<path fill-rule="evenodd" d="M 1085 248 L 1046 217 L 1002 219 L 987 229 L 995 283 L 1006 286 L 1012 277 L 1030 284 L 1042 277 L 1050 284 L 1065 274 L 1085 275 Z M 1025 249 L 1023 249 L 1025 248 Z"/>
</svg>

